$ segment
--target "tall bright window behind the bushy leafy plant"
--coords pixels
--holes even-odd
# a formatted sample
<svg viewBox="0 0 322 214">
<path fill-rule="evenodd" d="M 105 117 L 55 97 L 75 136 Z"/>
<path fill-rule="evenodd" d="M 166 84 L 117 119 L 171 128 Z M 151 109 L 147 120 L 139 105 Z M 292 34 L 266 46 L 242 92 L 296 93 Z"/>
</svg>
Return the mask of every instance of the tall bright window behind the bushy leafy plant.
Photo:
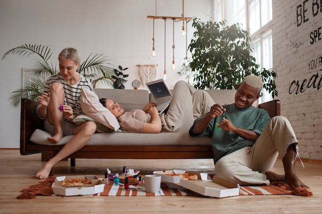
<svg viewBox="0 0 322 214">
<path fill-rule="evenodd" d="M 261 68 L 272 69 L 272 0 L 214 0 L 214 9 L 216 21 L 241 23 L 243 29 L 249 30 L 256 62 Z M 260 103 L 272 100 L 268 92 L 262 93 Z"/>
</svg>

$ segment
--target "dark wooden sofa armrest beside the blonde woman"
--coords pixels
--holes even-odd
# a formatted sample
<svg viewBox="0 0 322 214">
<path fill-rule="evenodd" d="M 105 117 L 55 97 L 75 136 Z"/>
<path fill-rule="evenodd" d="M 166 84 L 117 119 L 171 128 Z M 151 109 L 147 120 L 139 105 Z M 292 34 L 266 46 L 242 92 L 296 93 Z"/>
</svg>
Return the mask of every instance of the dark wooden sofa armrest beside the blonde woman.
<svg viewBox="0 0 322 214">
<path fill-rule="evenodd" d="M 28 150 L 30 137 L 35 129 L 44 129 L 44 123 L 37 114 L 38 102 L 23 98 L 21 101 L 21 115 L 20 115 L 20 153 L 33 154 L 40 151 Z"/>
</svg>

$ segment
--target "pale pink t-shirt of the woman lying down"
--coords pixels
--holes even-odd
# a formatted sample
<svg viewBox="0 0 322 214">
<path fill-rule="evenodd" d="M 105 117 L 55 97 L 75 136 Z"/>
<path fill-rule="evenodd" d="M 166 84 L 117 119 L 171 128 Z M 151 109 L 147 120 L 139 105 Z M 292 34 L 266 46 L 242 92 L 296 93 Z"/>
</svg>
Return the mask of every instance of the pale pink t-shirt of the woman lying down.
<svg viewBox="0 0 322 214">
<path fill-rule="evenodd" d="M 122 131 L 142 133 L 143 125 L 151 123 L 151 114 L 144 112 L 141 109 L 134 109 L 123 113 L 118 122 Z"/>
</svg>

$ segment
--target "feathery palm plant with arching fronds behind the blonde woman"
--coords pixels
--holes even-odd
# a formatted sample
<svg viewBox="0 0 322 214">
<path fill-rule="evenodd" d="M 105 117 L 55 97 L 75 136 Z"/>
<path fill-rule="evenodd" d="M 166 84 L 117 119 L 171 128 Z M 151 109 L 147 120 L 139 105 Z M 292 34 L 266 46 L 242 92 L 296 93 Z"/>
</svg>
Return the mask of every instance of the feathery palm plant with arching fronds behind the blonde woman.
<svg viewBox="0 0 322 214">
<path fill-rule="evenodd" d="M 52 55 L 51 49 L 48 46 L 43 45 L 25 44 L 7 51 L 2 57 L 2 60 L 9 55 L 35 55 L 35 58 L 33 59 L 33 68 L 30 70 L 34 77 L 21 88 L 11 92 L 9 96 L 10 105 L 18 107 L 22 98 L 29 98 L 36 101 L 44 88 L 44 83 L 39 79 L 39 76 L 50 76 L 57 72 L 56 64 L 53 65 L 50 59 Z M 109 59 L 103 54 L 93 53 L 80 64 L 77 72 L 83 74 L 86 78 L 91 79 L 93 85 L 96 85 L 97 82 L 111 84 L 109 79 L 114 74 Z M 97 78 L 98 75 L 100 77 Z"/>
</svg>

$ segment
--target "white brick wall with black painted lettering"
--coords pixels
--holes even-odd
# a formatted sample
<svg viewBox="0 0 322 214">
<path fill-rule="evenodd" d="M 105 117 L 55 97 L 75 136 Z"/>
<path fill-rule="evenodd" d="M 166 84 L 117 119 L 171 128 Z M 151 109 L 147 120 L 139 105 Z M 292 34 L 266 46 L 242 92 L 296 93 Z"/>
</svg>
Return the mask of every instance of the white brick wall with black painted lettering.
<svg viewBox="0 0 322 214">
<path fill-rule="evenodd" d="M 273 0 L 273 69 L 278 74 L 279 93 L 276 99 L 281 101 L 281 114 L 294 128 L 300 157 L 314 160 L 322 160 L 322 64 L 311 69 L 309 62 L 322 57 L 321 7 L 321 0 Z M 297 8 L 301 8 L 301 15 L 303 8 L 307 10 L 305 18 L 308 21 L 303 23 L 302 19 L 300 26 L 297 26 Z M 316 16 L 313 11 L 317 12 Z M 318 28 L 321 34 L 310 44 L 310 34 Z M 314 74 L 318 74 L 316 86 L 321 80 L 319 89 L 307 88 Z M 289 92 L 293 81 L 299 81 L 301 85 L 305 80 L 308 81 L 305 90 L 297 94 Z"/>
</svg>

